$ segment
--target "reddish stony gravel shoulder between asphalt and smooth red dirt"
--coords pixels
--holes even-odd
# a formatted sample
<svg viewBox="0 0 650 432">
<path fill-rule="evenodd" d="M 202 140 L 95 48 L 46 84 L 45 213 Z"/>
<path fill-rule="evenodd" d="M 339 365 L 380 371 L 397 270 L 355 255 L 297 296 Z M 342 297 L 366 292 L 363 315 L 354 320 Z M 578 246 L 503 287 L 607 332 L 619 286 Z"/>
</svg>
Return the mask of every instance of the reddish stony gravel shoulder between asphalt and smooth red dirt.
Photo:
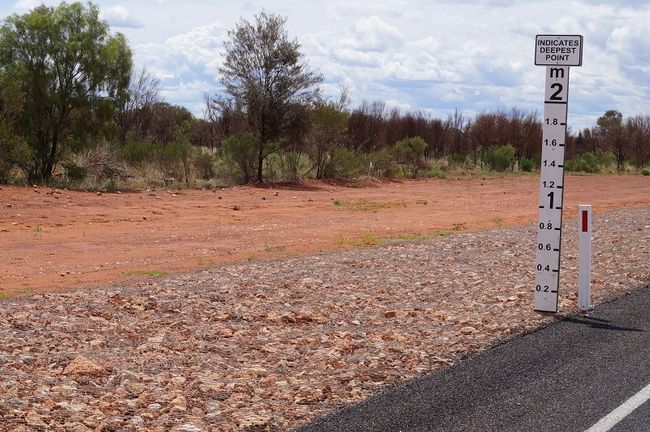
<svg viewBox="0 0 650 432">
<path fill-rule="evenodd" d="M 534 225 L 0 302 L 0 430 L 286 430 L 573 314 Z M 650 207 L 594 215 L 593 298 L 650 281 Z"/>
</svg>

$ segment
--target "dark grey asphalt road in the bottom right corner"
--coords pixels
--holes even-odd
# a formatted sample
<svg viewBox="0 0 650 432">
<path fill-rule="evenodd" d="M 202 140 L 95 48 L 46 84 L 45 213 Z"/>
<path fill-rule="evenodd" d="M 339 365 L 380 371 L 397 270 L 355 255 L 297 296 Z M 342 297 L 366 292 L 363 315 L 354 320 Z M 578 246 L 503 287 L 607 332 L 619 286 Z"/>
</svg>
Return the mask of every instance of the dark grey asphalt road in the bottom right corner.
<svg viewBox="0 0 650 432">
<path fill-rule="evenodd" d="M 650 285 L 300 428 L 584 432 L 650 383 Z M 650 431 L 650 401 L 611 431 Z"/>
</svg>

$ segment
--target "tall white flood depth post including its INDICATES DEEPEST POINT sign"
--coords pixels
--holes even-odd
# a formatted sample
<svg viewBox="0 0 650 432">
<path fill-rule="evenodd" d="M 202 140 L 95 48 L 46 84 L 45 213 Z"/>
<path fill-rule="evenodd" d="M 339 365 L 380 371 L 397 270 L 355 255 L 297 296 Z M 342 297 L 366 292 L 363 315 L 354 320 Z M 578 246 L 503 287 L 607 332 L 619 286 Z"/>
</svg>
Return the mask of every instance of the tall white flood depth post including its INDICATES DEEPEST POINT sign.
<svg viewBox="0 0 650 432">
<path fill-rule="evenodd" d="M 569 66 L 582 65 L 582 36 L 537 35 L 535 64 L 546 66 L 546 81 L 534 309 L 541 312 L 557 312 Z"/>
</svg>

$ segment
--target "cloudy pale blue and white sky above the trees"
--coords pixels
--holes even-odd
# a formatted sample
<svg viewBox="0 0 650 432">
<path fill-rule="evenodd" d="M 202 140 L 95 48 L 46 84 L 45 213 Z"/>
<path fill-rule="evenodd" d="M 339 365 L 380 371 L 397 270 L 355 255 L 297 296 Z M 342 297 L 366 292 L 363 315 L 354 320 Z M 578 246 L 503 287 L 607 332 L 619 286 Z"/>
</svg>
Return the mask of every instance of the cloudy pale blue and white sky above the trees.
<svg viewBox="0 0 650 432">
<path fill-rule="evenodd" d="M 0 17 L 35 0 L 0 0 Z M 55 1 L 45 1 L 56 4 Z M 291 38 L 325 76 L 324 92 L 348 88 L 353 105 L 383 100 L 446 118 L 517 106 L 542 111 L 544 69 L 536 34 L 584 35 L 583 66 L 571 69 L 569 124 L 591 126 L 608 109 L 650 114 L 650 2 L 643 0 L 221 1 L 100 0 L 124 33 L 136 67 L 163 96 L 200 115 L 220 90 L 227 31 L 264 10 L 288 18 Z"/>
</svg>

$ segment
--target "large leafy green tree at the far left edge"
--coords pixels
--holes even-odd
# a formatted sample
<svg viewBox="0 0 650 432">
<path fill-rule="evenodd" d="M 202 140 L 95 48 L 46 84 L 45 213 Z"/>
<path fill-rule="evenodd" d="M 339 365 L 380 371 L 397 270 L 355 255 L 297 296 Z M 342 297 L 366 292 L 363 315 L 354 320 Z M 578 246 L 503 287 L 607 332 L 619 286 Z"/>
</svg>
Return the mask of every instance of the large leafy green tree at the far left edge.
<svg viewBox="0 0 650 432">
<path fill-rule="evenodd" d="M 25 95 L 16 124 L 30 157 L 18 163 L 30 182 L 49 182 L 67 145 L 106 132 L 130 72 L 126 39 L 109 34 L 91 3 L 39 6 L 5 19 L 0 75 Z"/>
</svg>

